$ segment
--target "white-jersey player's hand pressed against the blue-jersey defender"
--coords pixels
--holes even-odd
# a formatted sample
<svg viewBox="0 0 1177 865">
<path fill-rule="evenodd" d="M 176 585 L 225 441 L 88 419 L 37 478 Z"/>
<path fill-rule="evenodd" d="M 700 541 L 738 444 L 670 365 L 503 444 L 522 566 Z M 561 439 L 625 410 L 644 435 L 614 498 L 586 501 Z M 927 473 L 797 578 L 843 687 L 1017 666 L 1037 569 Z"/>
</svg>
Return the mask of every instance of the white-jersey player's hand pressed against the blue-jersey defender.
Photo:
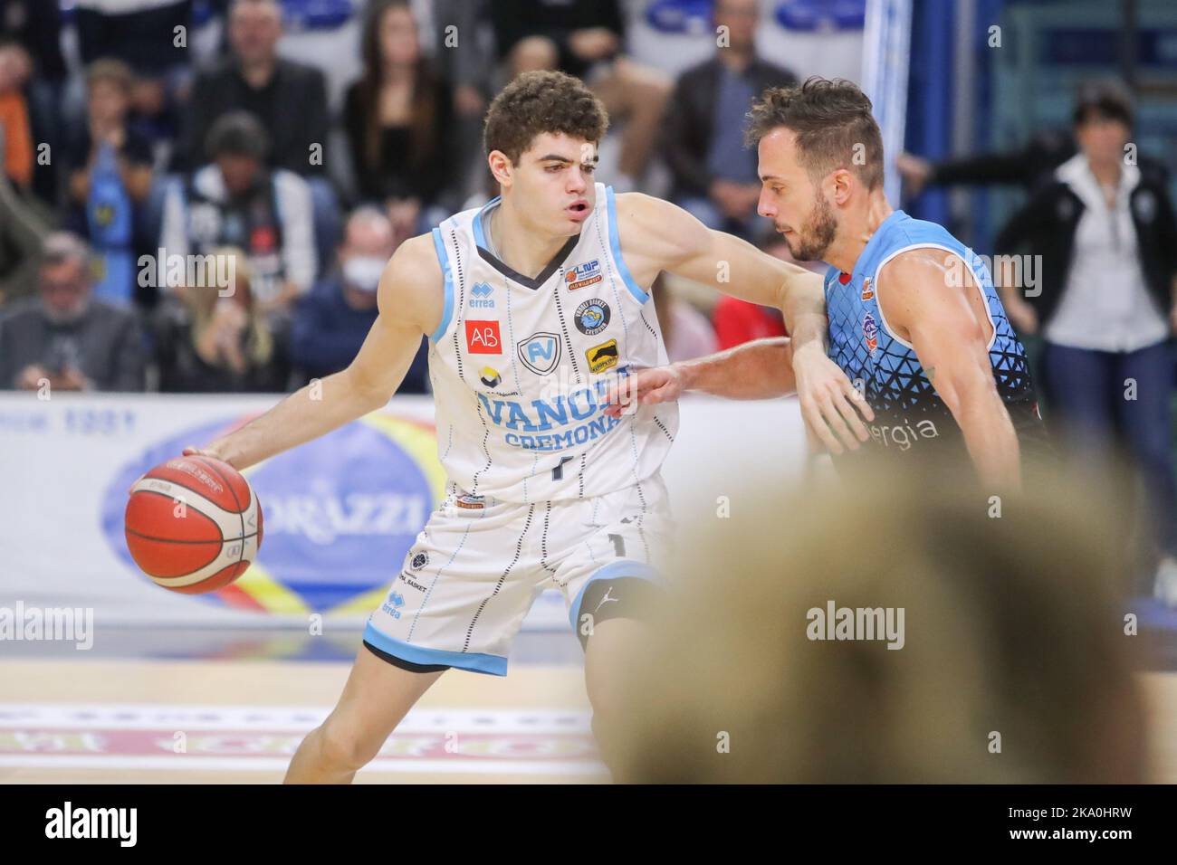
<svg viewBox="0 0 1177 865">
<path fill-rule="evenodd" d="M 875 412 L 824 351 L 818 346 L 811 351 L 794 351 L 793 377 L 802 415 L 831 453 L 839 454 L 847 447 L 857 451 L 859 443 L 870 439 L 858 414 L 860 412 L 871 421 Z"/>
</svg>

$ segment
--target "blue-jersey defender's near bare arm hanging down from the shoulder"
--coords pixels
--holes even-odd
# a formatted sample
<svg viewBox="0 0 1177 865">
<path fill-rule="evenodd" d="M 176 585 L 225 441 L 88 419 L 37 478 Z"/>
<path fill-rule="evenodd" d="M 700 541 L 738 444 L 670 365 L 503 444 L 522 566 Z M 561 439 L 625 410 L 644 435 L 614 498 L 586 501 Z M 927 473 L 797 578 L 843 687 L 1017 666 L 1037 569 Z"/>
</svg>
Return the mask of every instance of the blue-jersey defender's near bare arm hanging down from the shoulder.
<svg viewBox="0 0 1177 865">
<path fill-rule="evenodd" d="M 913 249 L 896 257 L 876 282 L 887 326 L 907 340 L 932 387 L 964 433 L 982 483 L 997 490 L 1020 485 L 1020 452 L 989 359 L 988 324 L 969 293 L 955 286 L 944 252 Z"/>
</svg>

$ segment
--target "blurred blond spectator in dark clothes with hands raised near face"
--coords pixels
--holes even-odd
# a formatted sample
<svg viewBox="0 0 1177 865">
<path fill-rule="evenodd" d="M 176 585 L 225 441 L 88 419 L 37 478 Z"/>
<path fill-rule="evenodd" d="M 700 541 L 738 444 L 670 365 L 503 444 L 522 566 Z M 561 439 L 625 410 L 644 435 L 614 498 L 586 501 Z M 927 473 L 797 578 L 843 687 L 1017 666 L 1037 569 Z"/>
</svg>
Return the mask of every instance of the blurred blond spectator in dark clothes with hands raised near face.
<svg viewBox="0 0 1177 865">
<path fill-rule="evenodd" d="M 157 318 L 160 390 L 175 393 L 277 393 L 286 390 L 290 365 L 284 335 L 271 330 L 251 291 L 250 259 L 241 249 L 213 254 L 230 264 L 226 290 L 194 286 L 185 314 L 174 302 Z"/>
</svg>

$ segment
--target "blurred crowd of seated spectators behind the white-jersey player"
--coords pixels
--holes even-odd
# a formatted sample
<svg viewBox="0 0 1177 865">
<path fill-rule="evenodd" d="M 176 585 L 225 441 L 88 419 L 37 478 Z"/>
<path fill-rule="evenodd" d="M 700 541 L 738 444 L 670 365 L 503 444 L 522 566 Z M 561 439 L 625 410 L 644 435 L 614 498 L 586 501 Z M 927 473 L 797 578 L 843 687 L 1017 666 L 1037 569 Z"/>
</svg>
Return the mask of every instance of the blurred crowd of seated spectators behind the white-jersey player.
<svg viewBox="0 0 1177 865">
<path fill-rule="evenodd" d="M 494 194 L 483 113 L 527 69 L 605 102 L 614 188 L 787 258 L 742 128 L 796 76 L 757 56 L 757 0 L 712 14 L 729 44 L 676 81 L 629 55 L 612 0 L 0 0 L 0 388 L 341 370 L 397 246 Z M 784 334 L 779 311 L 665 281 L 672 359 Z M 423 342 L 401 391 L 427 390 Z"/>
</svg>

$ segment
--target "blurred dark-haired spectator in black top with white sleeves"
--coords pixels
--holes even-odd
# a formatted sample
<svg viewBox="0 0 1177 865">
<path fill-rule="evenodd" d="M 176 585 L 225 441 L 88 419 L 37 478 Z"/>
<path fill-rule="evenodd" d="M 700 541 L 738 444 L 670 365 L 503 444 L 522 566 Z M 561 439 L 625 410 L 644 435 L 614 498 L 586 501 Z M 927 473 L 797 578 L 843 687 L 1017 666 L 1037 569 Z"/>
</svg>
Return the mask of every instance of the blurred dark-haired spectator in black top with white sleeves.
<svg viewBox="0 0 1177 865">
<path fill-rule="evenodd" d="M 311 191 L 298 174 L 271 171 L 267 147 L 252 114 L 218 119 L 208 132 L 212 165 L 168 191 L 161 244 L 168 257 L 244 249 L 252 302 L 278 326 L 277 319 L 288 318 L 293 301 L 314 285 L 317 259 Z"/>
</svg>

